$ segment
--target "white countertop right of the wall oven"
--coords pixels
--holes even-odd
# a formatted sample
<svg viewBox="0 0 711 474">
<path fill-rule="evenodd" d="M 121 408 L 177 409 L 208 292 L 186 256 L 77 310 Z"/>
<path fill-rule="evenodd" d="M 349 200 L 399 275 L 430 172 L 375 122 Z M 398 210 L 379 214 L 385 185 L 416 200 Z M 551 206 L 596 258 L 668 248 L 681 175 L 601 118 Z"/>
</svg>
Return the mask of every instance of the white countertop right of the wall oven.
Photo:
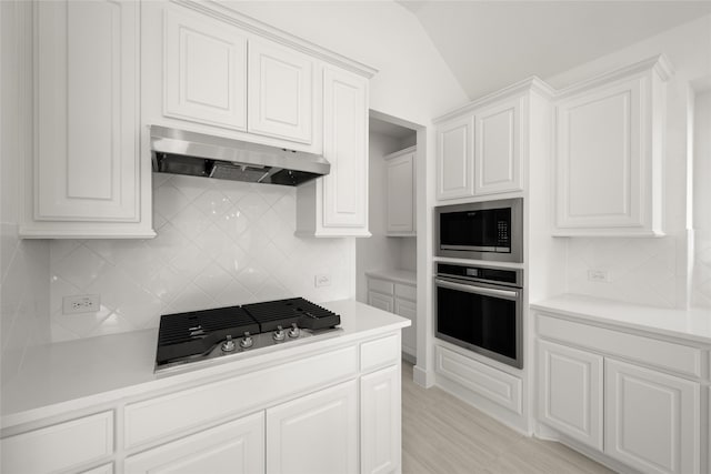
<svg viewBox="0 0 711 474">
<path fill-rule="evenodd" d="M 538 301 L 531 309 L 711 344 L 711 310 L 643 306 L 577 294 Z"/>
</svg>

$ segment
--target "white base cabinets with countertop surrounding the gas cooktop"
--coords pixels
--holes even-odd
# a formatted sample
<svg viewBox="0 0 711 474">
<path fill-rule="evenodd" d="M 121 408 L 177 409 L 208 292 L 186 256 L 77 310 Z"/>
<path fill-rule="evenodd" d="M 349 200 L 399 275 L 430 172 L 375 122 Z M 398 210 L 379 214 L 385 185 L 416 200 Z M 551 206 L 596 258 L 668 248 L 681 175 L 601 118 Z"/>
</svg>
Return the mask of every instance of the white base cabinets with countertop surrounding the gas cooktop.
<svg viewBox="0 0 711 474">
<path fill-rule="evenodd" d="M 154 330 L 41 349 L 2 387 L 1 471 L 400 472 L 409 323 L 324 305 L 341 314 L 330 337 L 174 374 L 152 373 Z"/>
</svg>

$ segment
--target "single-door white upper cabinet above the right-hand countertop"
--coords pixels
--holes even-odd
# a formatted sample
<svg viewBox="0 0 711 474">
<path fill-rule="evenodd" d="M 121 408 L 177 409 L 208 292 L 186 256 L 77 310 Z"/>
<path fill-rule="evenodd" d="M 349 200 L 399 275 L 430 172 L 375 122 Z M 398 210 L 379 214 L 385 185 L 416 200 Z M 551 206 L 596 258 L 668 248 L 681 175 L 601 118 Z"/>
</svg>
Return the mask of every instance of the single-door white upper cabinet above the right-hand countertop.
<svg viewBox="0 0 711 474">
<path fill-rule="evenodd" d="M 559 92 L 554 235 L 662 235 L 664 57 Z"/>
</svg>

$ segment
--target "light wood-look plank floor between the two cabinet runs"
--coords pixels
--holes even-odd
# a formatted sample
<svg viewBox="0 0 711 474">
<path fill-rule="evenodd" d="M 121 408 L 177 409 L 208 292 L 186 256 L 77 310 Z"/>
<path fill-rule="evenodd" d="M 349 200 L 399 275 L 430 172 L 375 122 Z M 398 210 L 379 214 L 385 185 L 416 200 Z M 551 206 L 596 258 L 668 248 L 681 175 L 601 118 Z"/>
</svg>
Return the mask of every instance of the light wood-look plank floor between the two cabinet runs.
<svg viewBox="0 0 711 474">
<path fill-rule="evenodd" d="M 438 387 L 412 382 L 402 362 L 403 474 L 603 474 L 559 443 L 527 437 Z"/>
</svg>

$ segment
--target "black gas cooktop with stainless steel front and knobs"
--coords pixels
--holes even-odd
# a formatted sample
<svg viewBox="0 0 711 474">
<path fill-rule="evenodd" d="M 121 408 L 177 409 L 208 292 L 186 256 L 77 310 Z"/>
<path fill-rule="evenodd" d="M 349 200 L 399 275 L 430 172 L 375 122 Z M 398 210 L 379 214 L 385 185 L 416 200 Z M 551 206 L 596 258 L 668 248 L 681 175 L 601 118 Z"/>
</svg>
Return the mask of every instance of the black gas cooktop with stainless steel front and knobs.
<svg viewBox="0 0 711 474">
<path fill-rule="evenodd" d="M 331 332 L 341 317 L 303 297 L 160 317 L 156 372 Z"/>
</svg>

